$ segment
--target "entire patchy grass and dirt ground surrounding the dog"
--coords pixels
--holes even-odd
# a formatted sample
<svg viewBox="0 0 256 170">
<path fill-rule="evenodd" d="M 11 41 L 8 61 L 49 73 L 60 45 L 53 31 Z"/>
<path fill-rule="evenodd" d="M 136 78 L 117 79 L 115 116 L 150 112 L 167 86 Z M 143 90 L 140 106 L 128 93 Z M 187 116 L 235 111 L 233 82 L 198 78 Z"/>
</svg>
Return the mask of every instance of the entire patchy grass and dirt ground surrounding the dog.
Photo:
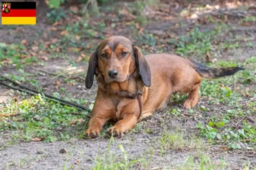
<svg viewBox="0 0 256 170">
<path fill-rule="evenodd" d="M 36 26 L 0 26 L 0 167 L 255 167 L 256 1 L 37 2 Z M 203 79 L 193 109 L 183 109 L 187 95 L 174 94 L 122 138 L 108 135 L 110 122 L 100 137 L 85 139 L 98 87 L 95 78 L 85 88 L 89 59 L 111 36 L 127 37 L 143 56 L 176 54 L 245 70 Z"/>
</svg>

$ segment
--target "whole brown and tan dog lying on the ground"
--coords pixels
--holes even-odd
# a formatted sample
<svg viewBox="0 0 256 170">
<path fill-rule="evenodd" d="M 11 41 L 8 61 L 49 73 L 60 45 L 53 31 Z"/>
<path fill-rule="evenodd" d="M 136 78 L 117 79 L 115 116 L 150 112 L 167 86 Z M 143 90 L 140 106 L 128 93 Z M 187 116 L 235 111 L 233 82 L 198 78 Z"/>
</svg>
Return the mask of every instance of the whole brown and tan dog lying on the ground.
<svg viewBox="0 0 256 170">
<path fill-rule="evenodd" d="M 90 56 L 85 85 L 91 88 L 96 75 L 98 89 L 84 134 L 96 138 L 108 120 L 118 120 L 108 133 L 122 136 L 139 118 L 166 105 L 176 92 L 189 94 L 183 107 L 192 108 L 198 101 L 201 77 L 224 77 L 241 69 L 209 68 L 172 54 L 143 56 L 129 39 L 108 37 Z"/>
</svg>

